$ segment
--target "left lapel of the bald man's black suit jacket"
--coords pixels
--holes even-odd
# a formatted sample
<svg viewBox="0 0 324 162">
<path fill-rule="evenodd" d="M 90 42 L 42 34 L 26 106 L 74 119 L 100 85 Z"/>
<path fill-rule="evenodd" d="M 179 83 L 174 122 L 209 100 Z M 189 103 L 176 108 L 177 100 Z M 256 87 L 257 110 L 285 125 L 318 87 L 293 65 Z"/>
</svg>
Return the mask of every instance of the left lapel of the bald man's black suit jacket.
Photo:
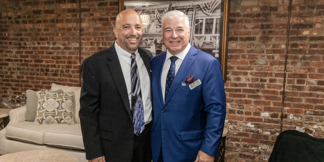
<svg viewBox="0 0 324 162">
<path fill-rule="evenodd" d="M 108 66 L 110 69 L 110 73 L 112 75 L 112 78 L 115 81 L 115 84 L 117 86 L 117 89 L 121 95 L 121 99 L 125 105 L 125 108 L 127 109 L 127 112 L 129 116 L 131 117 L 131 120 L 133 121 L 133 115 L 131 115 L 131 106 L 129 105 L 129 98 L 128 98 L 128 92 L 126 87 L 126 82 L 124 75 L 121 70 L 121 64 L 118 59 L 118 55 L 115 49 L 115 43 L 112 44 L 112 46 L 109 48 L 109 54 L 107 54 L 108 59 Z"/>
</svg>

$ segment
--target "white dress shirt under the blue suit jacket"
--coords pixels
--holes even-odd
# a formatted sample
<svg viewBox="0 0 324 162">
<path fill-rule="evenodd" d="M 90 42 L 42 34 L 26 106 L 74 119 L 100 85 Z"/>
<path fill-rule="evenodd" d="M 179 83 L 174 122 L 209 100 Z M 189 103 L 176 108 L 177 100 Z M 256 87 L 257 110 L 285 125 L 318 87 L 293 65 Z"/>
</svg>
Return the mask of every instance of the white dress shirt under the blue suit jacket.
<svg viewBox="0 0 324 162">
<path fill-rule="evenodd" d="M 175 55 L 179 59 L 177 59 L 176 62 L 175 62 L 175 64 L 176 64 L 176 74 L 174 75 L 174 77 L 176 77 L 177 72 L 179 70 L 179 67 L 182 64 L 182 61 L 183 61 L 184 57 L 186 57 L 187 53 L 189 52 L 190 47 L 191 47 L 191 45 L 190 45 L 190 43 L 188 43 L 187 47 L 182 52 Z M 171 56 L 173 56 L 173 55 L 169 52 L 169 50 L 167 50 L 167 56 L 165 58 L 163 69 L 162 69 L 162 74 L 161 74 L 161 89 L 162 89 L 163 100 L 164 100 L 164 96 L 165 96 L 165 83 L 166 83 L 168 71 L 169 71 L 170 65 L 171 65 L 171 60 L 170 60 Z"/>
</svg>

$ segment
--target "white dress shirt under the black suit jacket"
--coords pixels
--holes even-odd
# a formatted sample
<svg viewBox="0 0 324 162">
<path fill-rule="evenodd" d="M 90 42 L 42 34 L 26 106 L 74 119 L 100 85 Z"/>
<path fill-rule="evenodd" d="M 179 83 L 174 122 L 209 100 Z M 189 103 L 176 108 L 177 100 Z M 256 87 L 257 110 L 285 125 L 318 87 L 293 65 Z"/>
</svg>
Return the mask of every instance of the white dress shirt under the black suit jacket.
<svg viewBox="0 0 324 162">
<path fill-rule="evenodd" d="M 129 105 L 132 109 L 132 90 L 131 90 L 131 53 L 123 50 L 118 46 L 115 41 L 115 49 L 118 55 L 119 62 L 121 64 L 121 70 L 125 78 Z M 142 101 L 144 106 L 144 122 L 145 124 L 152 121 L 152 103 L 151 103 L 151 86 L 150 86 L 150 76 L 147 73 L 146 67 L 142 60 L 141 55 L 138 53 L 138 50 L 135 52 L 135 60 L 137 64 L 137 74 L 140 77 L 141 92 L 142 92 Z"/>
</svg>

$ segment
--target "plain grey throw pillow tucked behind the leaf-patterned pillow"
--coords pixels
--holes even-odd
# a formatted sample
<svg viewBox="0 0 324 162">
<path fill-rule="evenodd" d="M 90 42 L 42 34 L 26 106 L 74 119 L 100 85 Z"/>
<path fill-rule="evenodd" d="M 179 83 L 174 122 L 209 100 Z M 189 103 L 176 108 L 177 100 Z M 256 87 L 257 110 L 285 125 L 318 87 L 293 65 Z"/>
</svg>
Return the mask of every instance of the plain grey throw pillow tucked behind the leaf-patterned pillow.
<svg viewBox="0 0 324 162">
<path fill-rule="evenodd" d="M 54 93 L 62 92 L 62 89 L 52 91 Z M 26 91 L 26 114 L 24 121 L 35 121 L 36 111 L 37 111 L 37 94 L 33 90 Z"/>
</svg>

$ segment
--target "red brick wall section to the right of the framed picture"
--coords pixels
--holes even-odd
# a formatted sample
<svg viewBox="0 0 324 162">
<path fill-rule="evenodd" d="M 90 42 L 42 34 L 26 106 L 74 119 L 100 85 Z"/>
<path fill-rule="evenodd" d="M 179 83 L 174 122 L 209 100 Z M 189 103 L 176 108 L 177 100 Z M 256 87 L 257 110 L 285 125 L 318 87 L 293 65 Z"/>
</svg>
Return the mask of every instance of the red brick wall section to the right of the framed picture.
<svg viewBox="0 0 324 162">
<path fill-rule="evenodd" d="M 280 133 L 288 0 L 232 0 L 226 161 L 268 161 Z M 324 1 L 293 0 L 283 130 L 324 138 Z"/>
</svg>

